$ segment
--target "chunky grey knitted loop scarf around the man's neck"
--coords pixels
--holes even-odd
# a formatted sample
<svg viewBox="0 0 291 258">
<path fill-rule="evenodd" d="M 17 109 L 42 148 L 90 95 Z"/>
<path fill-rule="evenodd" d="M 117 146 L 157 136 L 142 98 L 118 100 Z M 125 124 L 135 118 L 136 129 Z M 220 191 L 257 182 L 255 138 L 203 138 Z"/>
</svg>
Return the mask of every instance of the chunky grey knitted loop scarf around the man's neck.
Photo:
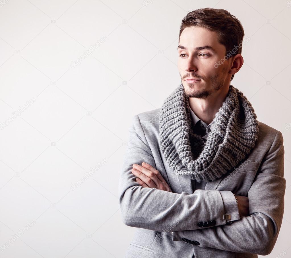
<svg viewBox="0 0 291 258">
<path fill-rule="evenodd" d="M 205 142 L 191 129 L 188 101 L 181 83 L 162 105 L 160 148 L 177 175 L 190 175 L 197 182 L 214 181 L 244 161 L 255 146 L 257 116 L 243 93 L 230 85 Z"/>
</svg>

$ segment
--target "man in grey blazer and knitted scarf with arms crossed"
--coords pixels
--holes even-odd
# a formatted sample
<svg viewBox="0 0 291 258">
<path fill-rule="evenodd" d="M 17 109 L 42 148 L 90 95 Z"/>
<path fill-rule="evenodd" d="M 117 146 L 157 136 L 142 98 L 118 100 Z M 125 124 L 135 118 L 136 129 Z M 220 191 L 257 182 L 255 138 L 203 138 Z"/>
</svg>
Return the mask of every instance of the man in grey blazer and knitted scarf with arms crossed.
<svg viewBox="0 0 291 258">
<path fill-rule="evenodd" d="M 258 121 L 230 85 L 244 30 L 226 10 L 182 20 L 179 85 L 162 108 L 135 115 L 120 175 L 126 257 L 258 257 L 284 211 L 282 133 Z"/>
</svg>

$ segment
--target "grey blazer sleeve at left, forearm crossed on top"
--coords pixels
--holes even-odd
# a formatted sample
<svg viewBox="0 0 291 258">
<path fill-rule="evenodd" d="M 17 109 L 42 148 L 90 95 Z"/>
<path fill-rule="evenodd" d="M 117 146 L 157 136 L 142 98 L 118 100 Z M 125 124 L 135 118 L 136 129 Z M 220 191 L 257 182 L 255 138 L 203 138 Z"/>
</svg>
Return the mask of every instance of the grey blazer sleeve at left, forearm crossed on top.
<svg viewBox="0 0 291 258">
<path fill-rule="evenodd" d="M 131 172 L 134 163 L 141 165 L 142 162 L 156 168 L 139 116 L 134 115 L 118 185 L 120 211 L 125 225 L 162 232 L 201 229 L 197 224 L 205 219 L 216 220 L 216 225 L 226 224 L 219 191 L 196 190 L 193 194 L 179 194 L 144 188 L 135 181 L 136 176 Z M 169 228 L 173 224 L 175 228 Z"/>
</svg>

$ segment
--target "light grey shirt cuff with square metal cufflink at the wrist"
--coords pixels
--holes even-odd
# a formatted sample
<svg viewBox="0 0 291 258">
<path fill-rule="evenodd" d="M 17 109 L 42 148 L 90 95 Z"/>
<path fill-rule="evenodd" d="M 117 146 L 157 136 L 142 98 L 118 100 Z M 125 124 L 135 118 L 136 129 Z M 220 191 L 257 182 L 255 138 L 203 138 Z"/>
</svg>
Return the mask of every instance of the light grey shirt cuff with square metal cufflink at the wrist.
<svg viewBox="0 0 291 258">
<path fill-rule="evenodd" d="M 224 214 L 230 214 L 230 219 L 227 220 L 227 224 L 234 220 L 239 220 L 239 210 L 235 196 L 231 191 L 219 191 L 223 200 Z"/>
</svg>

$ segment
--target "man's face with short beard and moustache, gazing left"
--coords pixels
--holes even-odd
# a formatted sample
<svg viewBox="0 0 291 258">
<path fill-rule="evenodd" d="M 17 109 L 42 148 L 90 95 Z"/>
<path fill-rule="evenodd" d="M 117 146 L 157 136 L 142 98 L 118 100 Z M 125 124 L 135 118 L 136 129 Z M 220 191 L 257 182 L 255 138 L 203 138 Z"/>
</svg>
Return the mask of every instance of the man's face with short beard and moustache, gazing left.
<svg viewBox="0 0 291 258">
<path fill-rule="evenodd" d="M 218 42 L 216 32 L 198 26 L 182 31 L 178 46 L 178 68 L 188 97 L 205 99 L 229 85 L 231 58 L 215 65 L 225 54 L 226 47 Z M 186 80 L 188 78 L 196 81 Z"/>
</svg>

